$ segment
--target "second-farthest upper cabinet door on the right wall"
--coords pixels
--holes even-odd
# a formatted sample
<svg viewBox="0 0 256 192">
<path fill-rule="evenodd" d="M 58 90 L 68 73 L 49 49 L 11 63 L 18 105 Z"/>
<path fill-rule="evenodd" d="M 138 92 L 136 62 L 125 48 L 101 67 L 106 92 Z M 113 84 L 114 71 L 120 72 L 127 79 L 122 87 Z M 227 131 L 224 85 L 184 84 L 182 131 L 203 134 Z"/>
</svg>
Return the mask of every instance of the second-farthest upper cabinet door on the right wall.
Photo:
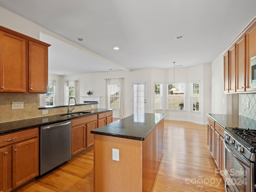
<svg viewBox="0 0 256 192">
<path fill-rule="evenodd" d="M 236 91 L 236 44 L 229 50 L 229 91 Z"/>
</svg>

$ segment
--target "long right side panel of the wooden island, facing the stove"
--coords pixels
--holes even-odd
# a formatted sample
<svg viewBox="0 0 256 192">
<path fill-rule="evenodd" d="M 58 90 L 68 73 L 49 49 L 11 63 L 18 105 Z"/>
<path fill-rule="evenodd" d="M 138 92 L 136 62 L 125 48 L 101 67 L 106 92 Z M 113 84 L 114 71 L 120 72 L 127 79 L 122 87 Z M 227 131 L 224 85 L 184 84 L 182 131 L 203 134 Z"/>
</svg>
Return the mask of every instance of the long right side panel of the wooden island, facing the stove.
<svg viewBox="0 0 256 192">
<path fill-rule="evenodd" d="M 142 191 L 151 192 L 164 155 L 164 119 L 142 142 Z"/>
</svg>

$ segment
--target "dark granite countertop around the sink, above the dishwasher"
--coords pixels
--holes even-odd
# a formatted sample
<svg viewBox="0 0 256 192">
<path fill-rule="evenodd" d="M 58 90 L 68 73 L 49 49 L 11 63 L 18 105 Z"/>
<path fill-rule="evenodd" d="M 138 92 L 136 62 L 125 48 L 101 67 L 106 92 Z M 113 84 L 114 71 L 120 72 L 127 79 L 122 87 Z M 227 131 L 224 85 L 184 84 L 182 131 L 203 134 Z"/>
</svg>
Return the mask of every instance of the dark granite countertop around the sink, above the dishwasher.
<svg viewBox="0 0 256 192">
<path fill-rule="evenodd" d="M 90 116 L 90 115 L 107 112 L 107 111 L 112 111 L 112 110 L 113 109 L 97 108 L 97 109 L 93 109 L 93 112 L 91 112 L 92 110 L 84 110 L 82 112 L 90 112 L 90 113 L 86 113 L 79 117 L 68 118 L 65 116 L 60 116 L 60 114 L 56 114 L 56 115 L 44 116 L 44 117 L 38 117 L 38 118 L 30 118 L 30 119 L 17 120 L 17 121 L 11 121 L 11 122 L 3 122 L 3 123 L 0 123 L 0 134 L 6 134 L 6 133 L 14 132 L 14 131 L 20 131 L 20 130 L 24 130 L 24 129 L 32 128 L 32 127 L 36 127 L 36 126 L 44 126 L 44 125 L 48 125 L 48 124 L 54 124 L 54 123 L 62 122 L 65 120 Z"/>
</svg>

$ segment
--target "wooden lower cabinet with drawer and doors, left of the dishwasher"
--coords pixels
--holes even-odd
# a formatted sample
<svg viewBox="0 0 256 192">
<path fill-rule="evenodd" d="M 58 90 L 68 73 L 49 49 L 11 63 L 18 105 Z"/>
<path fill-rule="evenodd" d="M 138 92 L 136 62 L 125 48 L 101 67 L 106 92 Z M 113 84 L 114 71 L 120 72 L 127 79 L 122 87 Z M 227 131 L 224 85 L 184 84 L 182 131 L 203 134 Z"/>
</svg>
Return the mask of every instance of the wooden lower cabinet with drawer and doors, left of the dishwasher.
<svg viewBox="0 0 256 192">
<path fill-rule="evenodd" d="M 38 128 L 0 136 L 0 192 L 10 192 L 39 173 Z"/>
</svg>

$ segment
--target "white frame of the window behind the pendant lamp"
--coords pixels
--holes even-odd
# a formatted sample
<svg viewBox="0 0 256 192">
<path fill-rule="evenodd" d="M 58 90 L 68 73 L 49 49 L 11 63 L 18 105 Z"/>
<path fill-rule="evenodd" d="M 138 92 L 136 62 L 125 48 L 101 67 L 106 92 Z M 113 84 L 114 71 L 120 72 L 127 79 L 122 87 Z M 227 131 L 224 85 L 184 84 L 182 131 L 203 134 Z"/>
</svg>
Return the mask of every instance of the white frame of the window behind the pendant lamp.
<svg viewBox="0 0 256 192">
<path fill-rule="evenodd" d="M 183 96 L 169 96 L 169 89 L 168 89 L 168 87 L 169 87 L 169 85 L 175 85 L 175 87 L 176 88 L 178 88 L 179 90 L 178 91 L 175 91 L 176 93 L 177 92 L 180 92 L 180 94 L 182 94 L 183 93 Z M 182 88 L 183 87 L 183 88 Z M 170 89 L 171 89 L 172 87 L 170 86 Z M 183 90 L 183 92 L 181 92 L 182 90 L 181 90 L 181 88 L 182 88 L 182 90 Z M 175 111 L 185 111 L 186 110 L 186 102 L 185 102 L 185 99 L 186 99 L 186 84 L 185 83 L 167 83 L 166 84 L 166 110 L 175 110 Z M 179 93 L 177 93 L 177 94 L 179 94 Z M 169 106 L 169 98 L 178 98 L 178 97 L 182 97 L 183 98 L 183 106 L 182 105 L 178 105 L 178 107 L 180 108 L 168 108 L 168 106 Z M 183 108 L 181 108 L 181 107 L 183 107 Z"/>
</svg>

